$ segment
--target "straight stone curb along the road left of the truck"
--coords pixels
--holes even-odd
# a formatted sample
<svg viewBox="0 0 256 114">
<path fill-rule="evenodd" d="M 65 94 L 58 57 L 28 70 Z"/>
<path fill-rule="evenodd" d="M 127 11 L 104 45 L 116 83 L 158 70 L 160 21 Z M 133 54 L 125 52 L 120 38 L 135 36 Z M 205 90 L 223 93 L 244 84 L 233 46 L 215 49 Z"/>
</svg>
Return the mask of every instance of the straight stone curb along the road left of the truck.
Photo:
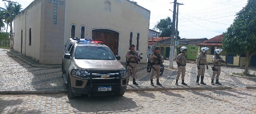
<svg viewBox="0 0 256 114">
<path fill-rule="evenodd" d="M 68 92 L 68 90 L 1 90 L 0 94 L 44 94 L 60 92 Z"/>
</svg>

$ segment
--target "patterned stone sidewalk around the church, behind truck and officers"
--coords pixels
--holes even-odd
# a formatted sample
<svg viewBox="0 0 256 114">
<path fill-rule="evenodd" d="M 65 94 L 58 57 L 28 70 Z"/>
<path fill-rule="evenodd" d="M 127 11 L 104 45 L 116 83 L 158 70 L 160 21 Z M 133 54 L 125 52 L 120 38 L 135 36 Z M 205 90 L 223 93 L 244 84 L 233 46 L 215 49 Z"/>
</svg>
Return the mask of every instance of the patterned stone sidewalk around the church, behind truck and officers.
<svg viewBox="0 0 256 114">
<path fill-rule="evenodd" d="M 0 66 L 3 66 L 0 68 L 0 71 L 2 71 L 2 76 L 0 76 L 0 83 L 2 84 L 0 85 L 0 94 L 41 94 L 67 91 L 60 69 L 61 65 L 42 65 L 30 57 L 16 51 L 6 51 L 6 49 L 0 49 L 0 55 L 3 58 L 2 60 L 5 61 L 0 63 Z M 130 77 L 127 91 L 256 88 L 256 79 L 233 77 L 226 72 L 221 72 L 220 83 L 222 85 L 211 85 L 212 71 L 210 69 L 206 70 L 204 78 L 204 83 L 207 85 L 196 85 L 197 68 L 194 63 L 187 63 L 186 66 L 184 81 L 188 85 L 181 85 L 180 79 L 178 81 L 179 86 L 176 86 L 176 63 L 174 62 L 174 69 L 168 68 L 169 61 L 167 60 L 165 60 L 164 65 L 164 74 L 159 79 L 162 86 L 156 85 L 155 75 L 153 80 L 155 86 L 151 86 L 150 73 L 146 72 L 147 64 L 139 63 L 136 73 L 136 82 L 139 85 L 133 85 L 132 77 Z"/>
</svg>

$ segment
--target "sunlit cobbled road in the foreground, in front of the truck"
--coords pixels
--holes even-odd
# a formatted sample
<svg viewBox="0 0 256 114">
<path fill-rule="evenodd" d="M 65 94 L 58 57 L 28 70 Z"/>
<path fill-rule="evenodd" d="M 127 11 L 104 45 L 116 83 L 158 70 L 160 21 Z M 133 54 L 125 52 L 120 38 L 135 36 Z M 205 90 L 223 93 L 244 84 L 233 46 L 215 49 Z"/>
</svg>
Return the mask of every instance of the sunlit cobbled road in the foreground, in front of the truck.
<svg viewBox="0 0 256 114">
<path fill-rule="evenodd" d="M 256 114 L 256 90 L 134 91 L 124 96 L 0 95 L 0 114 Z"/>
</svg>

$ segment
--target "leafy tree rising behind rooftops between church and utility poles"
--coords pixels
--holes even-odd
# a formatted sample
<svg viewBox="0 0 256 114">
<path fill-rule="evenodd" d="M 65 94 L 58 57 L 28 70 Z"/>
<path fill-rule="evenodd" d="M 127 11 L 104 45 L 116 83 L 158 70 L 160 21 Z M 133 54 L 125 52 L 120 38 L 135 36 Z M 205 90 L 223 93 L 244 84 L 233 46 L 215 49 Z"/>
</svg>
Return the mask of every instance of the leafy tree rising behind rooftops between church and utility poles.
<svg viewBox="0 0 256 114">
<path fill-rule="evenodd" d="M 170 37 L 172 34 L 172 20 L 170 17 L 161 19 L 153 28 L 154 30 L 160 30 L 159 37 Z M 178 32 L 178 39 L 180 39 Z"/>
</svg>

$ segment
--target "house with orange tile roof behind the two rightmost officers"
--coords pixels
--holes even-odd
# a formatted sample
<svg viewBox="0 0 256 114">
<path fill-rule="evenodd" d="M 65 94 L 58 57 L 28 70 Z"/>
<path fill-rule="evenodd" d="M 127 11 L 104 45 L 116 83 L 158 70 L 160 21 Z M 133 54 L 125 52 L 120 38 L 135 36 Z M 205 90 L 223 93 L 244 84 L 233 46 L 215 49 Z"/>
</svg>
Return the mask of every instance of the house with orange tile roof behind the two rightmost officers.
<svg viewBox="0 0 256 114">
<path fill-rule="evenodd" d="M 206 41 L 203 41 L 202 43 L 198 43 L 198 53 L 200 53 L 200 49 L 202 47 L 208 47 L 210 48 L 208 51 L 206 51 L 206 57 L 207 57 L 207 62 L 212 63 L 212 56 L 214 55 L 214 50 L 215 49 L 222 49 L 222 38 L 224 34 L 217 35 L 211 39 L 208 39 Z M 244 66 L 246 62 L 246 55 L 233 55 L 233 54 L 228 54 L 224 50 L 220 53 L 220 57 L 224 59 L 229 65 L 235 65 L 235 66 Z M 252 59 L 254 59 L 252 57 Z M 250 65 L 254 65 L 254 61 L 250 62 Z"/>
</svg>

